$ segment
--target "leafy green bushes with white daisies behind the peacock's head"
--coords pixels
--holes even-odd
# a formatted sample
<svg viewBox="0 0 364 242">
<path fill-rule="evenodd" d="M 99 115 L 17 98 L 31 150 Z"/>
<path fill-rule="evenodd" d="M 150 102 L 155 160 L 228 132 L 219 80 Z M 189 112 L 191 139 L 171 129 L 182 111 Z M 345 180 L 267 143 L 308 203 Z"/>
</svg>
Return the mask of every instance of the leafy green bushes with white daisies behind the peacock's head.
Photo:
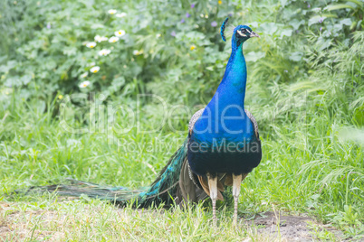
<svg viewBox="0 0 364 242">
<path fill-rule="evenodd" d="M 364 24 L 362 6 L 359 0 L 3 1 L 2 88 L 26 89 L 24 98 L 79 92 L 81 75 L 96 65 L 97 75 L 84 78 L 91 81 L 88 90 L 118 97 L 157 92 L 196 103 L 196 94 L 210 97 L 221 79 L 229 46 L 219 26 L 226 16 L 263 36 L 245 47 L 247 61 L 256 63 L 250 64 L 254 78 L 268 85 L 295 82 L 308 79 L 312 67 L 332 65 L 335 57 L 327 53 L 335 47 L 350 48 L 352 33 Z M 110 9 L 117 12 L 109 14 Z M 110 38 L 120 30 L 125 31 L 120 41 L 86 47 L 96 35 Z M 111 52 L 100 56 L 102 49 Z"/>
</svg>

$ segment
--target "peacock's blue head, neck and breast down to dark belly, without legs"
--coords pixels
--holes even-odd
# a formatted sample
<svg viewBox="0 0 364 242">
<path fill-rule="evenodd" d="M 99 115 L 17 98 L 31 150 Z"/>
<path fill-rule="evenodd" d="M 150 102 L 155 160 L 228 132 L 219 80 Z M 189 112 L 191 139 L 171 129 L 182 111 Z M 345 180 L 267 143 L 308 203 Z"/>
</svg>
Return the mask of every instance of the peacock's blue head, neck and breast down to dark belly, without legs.
<svg viewBox="0 0 364 242">
<path fill-rule="evenodd" d="M 226 21 L 225 21 L 226 22 Z M 223 23 L 222 29 L 225 26 Z M 232 53 L 227 62 L 225 75 L 216 94 L 207 104 L 202 116 L 196 121 L 188 143 L 188 163 L 193 172 L 251 172 L 261 159 L 260 143 L 254 134 L 254 126 L 244 111 L 246 88 L 246 63 L 243 43 L 251 35 L 257 35 L 248 26 L 235 27 L 232 38 Z M 208 152 L 192 151 L 192 146 L 207 146 Z M 226 151 L 216 154 L 218 147 L 228 145 L 249 151 Z"/>
</svg>

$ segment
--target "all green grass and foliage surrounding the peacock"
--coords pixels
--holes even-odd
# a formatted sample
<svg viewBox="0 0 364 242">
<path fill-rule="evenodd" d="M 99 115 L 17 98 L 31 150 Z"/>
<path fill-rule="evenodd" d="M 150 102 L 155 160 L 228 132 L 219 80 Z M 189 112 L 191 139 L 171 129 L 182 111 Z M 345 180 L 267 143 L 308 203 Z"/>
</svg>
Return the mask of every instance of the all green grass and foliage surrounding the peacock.
<svg viewBox="0 0 364 242">
<path fill-rule="evenodd" d="M 289 223 L 276 222 L 274 234 L 251 224 L 273 212 L 277 221 L 281 213 L 303 218 L 300 239 L 363 239 L 362 2 L 137 2 L 0 3 L 0 238 L 293 239 L 284 234 Z M 244 55 L 245 106 L 257 119 L 263 160 L 242 184 L 237 228 L 224 205 L 215 229 L 208 204 L 135 210 L 14 193 L 67 178 L 148 186 L 223 76 L 230 45 L 218 28 L 226 16 L 262 36 L 244 43 Z M 88 47 L 120 28 L 118 42 Z"/>
</svg>

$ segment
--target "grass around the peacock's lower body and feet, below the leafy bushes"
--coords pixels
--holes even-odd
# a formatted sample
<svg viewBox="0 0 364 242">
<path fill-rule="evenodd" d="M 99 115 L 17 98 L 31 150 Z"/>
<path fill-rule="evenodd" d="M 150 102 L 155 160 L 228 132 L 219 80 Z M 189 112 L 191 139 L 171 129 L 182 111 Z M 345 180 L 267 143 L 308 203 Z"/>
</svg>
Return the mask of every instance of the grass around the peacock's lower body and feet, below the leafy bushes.
<svg viewBox="0 0 364 242">
<path fill-rule="evenodd" d="M 87 198 L 64 202 L 53 195 L 14 195 L 12 192 L 16 189 L 59 183 L 68 177 L 111 186 L 147 186 L 185 137 L 183 132 L 171 132 L 170 128 L 140 134 L 133 127 L 127 134 L 116 134 L 113 131 L 116 127 L 129 126 L 129 116 L 122 114 L 115 117 L 118 126 L 97 125 L 92 132 L 72 134 L 60 125 L 61 115 L 53 117 L 57 102 L 60 100 L 50 100 L 42 107 L 39 101 L 24 101 L 14 93 L 11 104 L 2 109 L 1 204 L 10 207 L 1 210 L 1 221 L 3 226 L 10 223 L 11 228 L 4 238 L 21 238 L 19 231 L 23 227 L 28 231 L 24 232 L 27 239 L 47 235 L 71 240 L 117 240 L 121 234 L 129 239 L 154 237 L 156 240 L 158 237 L 240 240 L 262 236 L 244 224 L 235 232 L 231 228 L 231 212 L 228 208 L 223 211 L 225 207 L 219 212 L 224 229 L 219 228 L 217 232 L 210 228 L 211 213 L 201 206 L 187 211 L 158 209 L 135 217 L 138 212 L 132 209 L 113 209 Z M 45 107 L 50 108 L 45 110 Z M 161 113 L 158 106 L 143 110 L 148 118 L 141 116 L 141 128 L 150 130 L 158 126 Z M 263 162 L 242 184 L 240 215 L 249 219 L 268 210 L 304 213 L 318 222 L 340 228 L 343 237 L 360 237 L 363 233 L 362 146 L 337 135 L 339 126 L 328 113 L 315 114 L 311 121 L 307 120 L 307 111 L 302 113 L 306 116 L 300 122 L 272 126 L 274 135 L 262 132 Z M 73 127 L 90 127 L 82 125 L 81 117 L 67 122 Z M 148 149 L 146 144 L 151 143 L 157 148 Z M 14 213 L 18 213 L 18 219 L 10 219 Z M 95 213 L 95 217 L 90 213 Z M 69 222 L 64 223 L 64 219 Z M 17 223 L 21 228 L 16 227 Z M 170 231 L 170 235 L 162 236 L 165 231 Z M 333 236 L 328 232 L 324 237 Z"/>
</svg>

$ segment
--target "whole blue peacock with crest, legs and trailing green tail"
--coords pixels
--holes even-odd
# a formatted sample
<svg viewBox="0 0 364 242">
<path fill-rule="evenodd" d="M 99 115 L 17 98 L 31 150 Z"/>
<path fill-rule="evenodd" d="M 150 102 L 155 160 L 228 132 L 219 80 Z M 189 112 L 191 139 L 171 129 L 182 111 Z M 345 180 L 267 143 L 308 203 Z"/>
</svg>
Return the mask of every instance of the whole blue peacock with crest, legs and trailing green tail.
<svg viewBox="0 0 364 242">
<path fill-rule="evenodd" d="M 224 42 L 228 18 L 221 26 Z M 232 186 L 234 222 L 241 182 L 262 159 L 261 141 L 254 116 L 244 109 L 246 62 L 243 44 L 259 37 L 247 25 L 232 28 L 232 51 L 224 78 L 207 106 L 198 110 L 188 123 L 184 144 L 169 159 L 158 178 L 147 189 L 131 191 L 124 187 L 102 187 L 72 180 L 69 185 L 32 187 L 27 192 L 56 191 L 60 195 L 114 200 L 120 205 L 150 208 L 159 204 L 185 204 L 212 200 L 216 224 L 216 200 Z"/>
</svg>

